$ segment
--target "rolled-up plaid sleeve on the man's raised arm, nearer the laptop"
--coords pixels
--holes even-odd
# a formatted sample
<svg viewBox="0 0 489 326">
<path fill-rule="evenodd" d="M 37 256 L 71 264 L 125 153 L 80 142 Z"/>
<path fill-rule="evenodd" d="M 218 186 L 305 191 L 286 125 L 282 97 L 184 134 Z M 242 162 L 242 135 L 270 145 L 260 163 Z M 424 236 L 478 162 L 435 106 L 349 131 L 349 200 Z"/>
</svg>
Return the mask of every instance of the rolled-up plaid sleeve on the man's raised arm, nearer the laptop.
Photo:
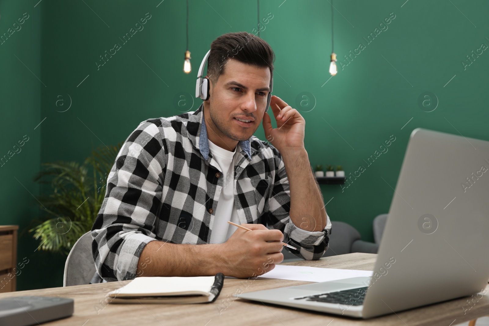
<svg viewBox="0 0 489 326">
<path fill-rule="evenodd" d="M 331 221 L 328 215 L 326 226 L 322 231 L 306 231 L 296 226 L 290 218 L 289 179 L 282 157 L 276 149 L 276 166 L 273 185 L 268 198 L 268 224 L 284 233 L 284 242 L 296 247 L 291 253 L 305 260 L 318 260 L 328 249 L 331 234 Z"/>
</svg>

